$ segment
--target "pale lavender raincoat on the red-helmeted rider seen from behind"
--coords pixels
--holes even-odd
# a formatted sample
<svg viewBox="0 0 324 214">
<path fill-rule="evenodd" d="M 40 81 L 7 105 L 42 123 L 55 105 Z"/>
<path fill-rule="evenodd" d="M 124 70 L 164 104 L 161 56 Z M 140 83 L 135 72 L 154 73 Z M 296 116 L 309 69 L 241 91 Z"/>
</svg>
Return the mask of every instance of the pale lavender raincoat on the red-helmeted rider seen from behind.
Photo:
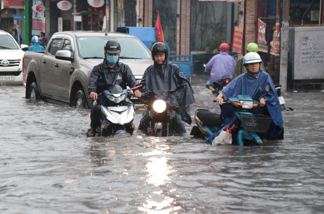
<svg viewBox="0 0 324 214">
<path fill-rule="evenodd" d="M 209 82 L 218 82 L 223 76 L 233 74 L 235 60 L 228 55 L 228 51 L 221 51 L 220 54 L 213 56 L 206 65 L 206 72 L 210 73 Z"/>
</svg>

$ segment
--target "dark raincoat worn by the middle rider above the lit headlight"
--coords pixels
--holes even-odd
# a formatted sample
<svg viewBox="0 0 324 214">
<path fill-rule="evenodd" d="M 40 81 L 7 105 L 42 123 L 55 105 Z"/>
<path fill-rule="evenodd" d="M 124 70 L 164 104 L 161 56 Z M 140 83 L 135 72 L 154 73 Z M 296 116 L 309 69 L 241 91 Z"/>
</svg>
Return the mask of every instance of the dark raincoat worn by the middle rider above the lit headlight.
<svg viewBox="0 0 324 214">
<path fill-rule="evenodd" d="M 183 121 L 191 124 L 189 106 L 195 102 L 193 90 L 179 66 L 166 60 L 162 65 L 154 63 L 147 68 L 141 82 L 146 84 L 142 89 L 142 97 L 146 104 L 153 99 L 162 99 Z"/>
</svg>

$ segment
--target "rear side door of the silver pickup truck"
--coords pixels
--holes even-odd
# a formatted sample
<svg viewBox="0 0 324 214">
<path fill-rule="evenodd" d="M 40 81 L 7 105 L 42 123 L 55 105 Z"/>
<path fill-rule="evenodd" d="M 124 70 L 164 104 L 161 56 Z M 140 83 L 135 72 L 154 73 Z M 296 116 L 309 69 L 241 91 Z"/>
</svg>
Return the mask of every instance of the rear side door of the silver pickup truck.
<svg viewBox="0 0 324 214">
<path fill-rule="evenodd" d="M 55 54 L 62 45 L 62 38 L 53 39 L 48 47 L 47 54 L 45 53 L 40 62 L 40 87 L 44 95 L 50 98 L 56 98 L 56 84 L 54 79 L 54 71 L 56 70 Z"/>
</svg>

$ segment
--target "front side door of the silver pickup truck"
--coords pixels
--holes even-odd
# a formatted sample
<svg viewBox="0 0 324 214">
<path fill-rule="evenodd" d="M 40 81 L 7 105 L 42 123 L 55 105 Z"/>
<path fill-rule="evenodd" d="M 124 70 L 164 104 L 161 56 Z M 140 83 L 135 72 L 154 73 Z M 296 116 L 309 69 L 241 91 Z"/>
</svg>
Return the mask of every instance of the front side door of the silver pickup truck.
<svg viewBox="0 0 324 214">
<path fill-rule="evenodd" d="M 71 57 L 73 56 L 73 50 L 71 42 L 68 39 L 63 40 L 62 50 L 68 50 L 71 52 Z M 72 63 L 67 60 L 56 59 L 56 67 L 54 69 L 54 81 L 56 83 L 56 94 L 60 100 L 64 102 L 70 102 L 70 81 L 71 74 L 70 70 Z"/>
</svg>

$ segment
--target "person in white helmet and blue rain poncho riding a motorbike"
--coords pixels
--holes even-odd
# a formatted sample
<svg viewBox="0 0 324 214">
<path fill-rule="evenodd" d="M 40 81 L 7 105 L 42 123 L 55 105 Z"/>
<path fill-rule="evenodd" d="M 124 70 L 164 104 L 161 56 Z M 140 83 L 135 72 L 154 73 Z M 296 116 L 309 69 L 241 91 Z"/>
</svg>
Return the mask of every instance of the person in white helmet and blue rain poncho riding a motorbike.
<svg viewBox="0 0 324 214">
<path fill-rule="evenodd" d="M 226 129 L 227 125 L 231 125 L 235 119 L 234 107 L 228 105 L 222 106 L 223 98 L 235 98 L 238 95 L 250 96 L 253 100 L 258 100 L 263 94 L 266 86 L 270 86 L 270 91 L 267 95 L 260 99 L 261 107 L 251 110 L 253 114 L 260 114 L 264 110 L 265 114 L 272 117 L 267 139 L 283 139 L 284 138 L 284 121 L 281 114 L 280 103 L 275 86 L 272 82 L 270 75 L 260 70 L 261 57 L 259 54 L 250 52 L 244 57 L 243 65 L 247 69 L 247 73 L 242 74 L 232 80 L 216 98 L 217 103 L 221 106 L 221 117 L 224 121 L 223 127 L 220 131 L 212 134 L 206 141 L 206 143 L 212 143 L 213 139 L 219 135 L 219 133 Z"/>
</svg>

